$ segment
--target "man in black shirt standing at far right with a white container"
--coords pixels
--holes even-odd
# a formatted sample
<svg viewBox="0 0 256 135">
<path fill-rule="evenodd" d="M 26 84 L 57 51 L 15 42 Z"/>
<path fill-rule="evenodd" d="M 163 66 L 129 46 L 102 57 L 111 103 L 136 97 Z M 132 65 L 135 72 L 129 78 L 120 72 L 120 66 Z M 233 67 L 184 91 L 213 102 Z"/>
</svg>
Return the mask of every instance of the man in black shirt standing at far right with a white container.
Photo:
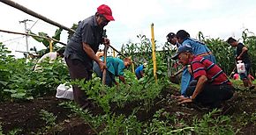
<svg viewBox="0 0 256 135">
<path fill-rule="evenodd" d="M 236 39 L 230 37 L 227 42 L 230 46 L 237 47 L 237 56 L 236 60 L 242 60 L 245 63 L 245 73 L 239 74 L 241 80 L 244 82 L 244 86 L 248 87 L 249 89 L 254 89 L 255 86 L 252 84 L 251 77 L 249 76 L 250 68 L 252 67 L 251 60 L 249 59 L 248 55 L 248 48 L 244 46 L 242 43 L 238 43 Z"/>
</svg>

